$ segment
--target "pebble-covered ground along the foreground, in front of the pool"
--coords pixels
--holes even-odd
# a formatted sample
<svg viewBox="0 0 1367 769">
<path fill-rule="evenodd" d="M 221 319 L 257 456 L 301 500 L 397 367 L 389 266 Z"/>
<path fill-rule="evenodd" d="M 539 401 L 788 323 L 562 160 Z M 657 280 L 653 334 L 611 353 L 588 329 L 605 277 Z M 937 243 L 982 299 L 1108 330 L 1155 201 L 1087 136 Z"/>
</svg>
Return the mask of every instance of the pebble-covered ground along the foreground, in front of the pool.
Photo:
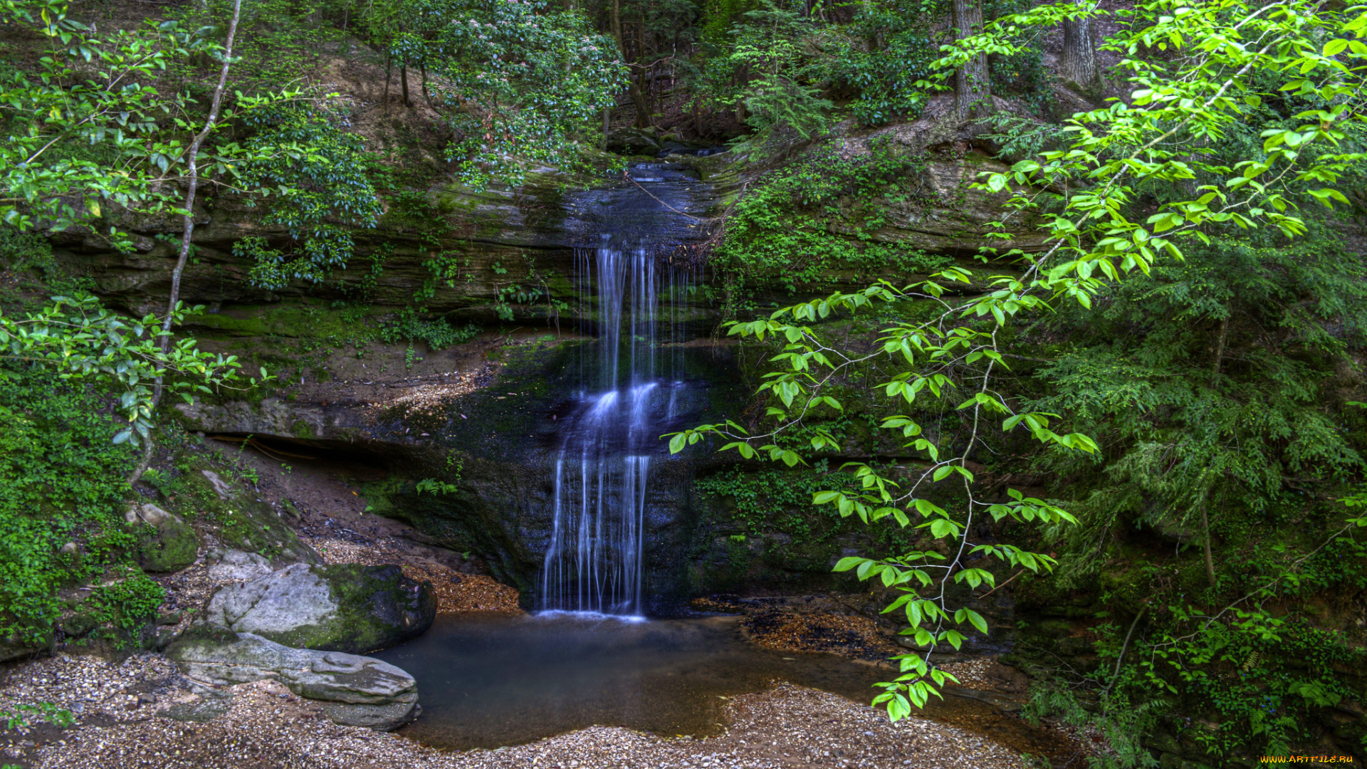
<svg viewBox="0 0 1367 769">
<path fill-rule="evenodd" d="M 442 753 L 395 735 L 338 727 L 275 681 L 193 694 L 163 657 L 123 664 L 56 657 L 12 668 L 0 707 L 52 702 L 67 729 L 3 732 L 0 762 L 31 769 L 1017 769 L 1012 751 L 950 725 L 898 724 L 871 707 L 779 684 L 729 701 L 708 739 L 593 727 L 499 750 Z M 206 721 L 176 721 L 179 712 Z M 29 744 L 23 744 L 29 743 Z"/>
</svg>

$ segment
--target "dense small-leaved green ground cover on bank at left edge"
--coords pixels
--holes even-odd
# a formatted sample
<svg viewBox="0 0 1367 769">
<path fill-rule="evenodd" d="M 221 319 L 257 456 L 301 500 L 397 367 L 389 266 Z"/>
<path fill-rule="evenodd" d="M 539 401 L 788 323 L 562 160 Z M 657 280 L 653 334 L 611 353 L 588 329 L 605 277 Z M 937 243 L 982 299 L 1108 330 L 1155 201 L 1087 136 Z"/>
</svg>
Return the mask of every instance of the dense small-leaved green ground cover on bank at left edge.
<svg viewBox="0 0 1367 769">
<path fill-rule="evenodd" d="M 119 419 L 93 393 L 8 364 L 0 386 L 0 636 L 42 642 L 59 587 L 122 562 L 124 476 L 134 457 L 112 443 Z M 82 543 L 63 553 L 67 542 Z"/>
</svg>

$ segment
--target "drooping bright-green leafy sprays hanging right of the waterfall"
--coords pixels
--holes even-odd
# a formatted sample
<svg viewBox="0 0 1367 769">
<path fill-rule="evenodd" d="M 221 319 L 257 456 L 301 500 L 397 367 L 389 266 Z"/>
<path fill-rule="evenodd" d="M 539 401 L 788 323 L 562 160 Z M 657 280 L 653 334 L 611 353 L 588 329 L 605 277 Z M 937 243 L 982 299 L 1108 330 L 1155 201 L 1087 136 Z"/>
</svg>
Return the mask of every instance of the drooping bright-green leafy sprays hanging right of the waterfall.
<svg viewBox="0 0 1367 769">
<path fill-rule="evenodd" d="M 895 523 L 902 530 L 917 530 L 931 539 L 945 540 L 943 549 L 954 553 L 953 557 L 946 557 L 936 549 L 906 549 L 883 558 L 850 556 L 835 565 L 837 572 L 853 571 L 860 580 L 876 577 L 883 587 L 899 592 L 884 613 L 905 613 L 908 627 L 901 632 L 927 650 L 897 657 L 902 675 L 894 681 L 879 684 L 884 692 L 874 702 L 884 705 L 894 720 L 908 716 L 913 705 L 923 707 L 931 695 L 939 696 L 938 687 L 953 680 L 943 670 L 930 666 L 931 650 L 940 643 L 957 650 L 966 638 L 965 632 L 987 632 L 987 623 L 977 612 L 968 606 L 951 606 L 947 599 L 951 583 L 973 588 L 995 584 L 994 573 L 983 568 L 986 562 L 968 565 L 965 557 L 999 560 L 1035 573 L 1047 573 L 1055 564 L 1044 553 L 1033 553 L 1016 545 L 972 542 L 973 521 L 986 517 L 997 523 L 1012 520 L 1029 525 L 1074 521 L 1066 510 L 1047 501 L 1025 497 L 1016 488 L 1007 487 L 1001 501 L 980 494 L 975 487 L 975 473 L 968 467 L 968 457 L 982 445 L 987 426 L 1002 419 L 1002 432 L 1021 428 L 1046 445 L 1084 453 L 1098 450 L 1096 443 L 1083 434 L 1055 432 L 1050 427 L 1055 415 L 1013 408 L 988 384 L 994 368 L 1007 368 L 999 349 L 999 328 L 1017 313 L 1039 311 L 1047 305 L 1039 297 L 1024 294 L 1024 286 L 1009 276 L 992 281 L 999 287 L 995 293 L 957 304 L 943 300 L 945 289 L 936 281 L 968 282 L 969 272 L 950 268 L 905 289 L 882 282 L 858 293 L 835 293 L 824 300 L 786 307 L 770 317 L 750 323 L 730 323 L 731 335 L 757 341 L 772 335 L 783 343 L 783 352 L 771 359 L 776 364 L 775 371 L 764 375 L 766 382 L 759 389 L 772 398 L 772 405 L 767 408 L 767 431 L 750 435 L 734 421 L 726 421 L 671 434 L 670 439 L 670 450 L 677 453 L 704 436 L 718 436 L 729 441 L 720 447 L 722 452 L 734 449 L 742 458 L 767 454 L 771 461 L 796 467 L 805 464 L 805 460 L 796 447 L 785 447 L 779 436 L 805 426 L 811 434 L 808 443 L 812 452 L 839 452 L 835 435 L 830 430 L 811 427 L 811 423 L 813 417 L 831 410 L 843 412 L 843 405 L 827 394 L 831 391 L 827 387 L 845 371 L 857 369 L 865 361 L 884 357 L 898 360 L 901 371 L 879 387 L 906 408 L 916 406 L 919 395 L 923 401 L 945 401 L 947 406 L 953 402 L 949 400 L 951 393 L 965 390 L 966 400 L 954 410 L 965 412 L 973 431 L 964 445 L 954 446 L 954 454 L 942 457 L 936 442 L 924 436 L 924 427 L 915 415 L 887 415 L 880 427 L 899 432 L 904 446 L 924 453 L 928 461 L 910 468 L 909 478 L 867 462 L 846 462 L 842 469 L 846 469 L 850 480 L 843 487 L 826 488 L 812 495 L 812 504 L 833 505 L 841 517 L 857 516 L 864 524 L 883 521 L 882 525 Z M 833 313 L 853 313 L 868 309 L 874 302 L 909 298 L 930 300 L 939 304 L 942 311 L 924 322 L 893 324 L 868 352 L 845 350 L 842 345 L 824 338 L 820 324 Z M 961 320 L 973 317 L 987 317 L 987 322 Z M 961 324 L 954 326 L 950 319 Z M 805 449 L 804 446 L 802 450 Z M 960 510 L 950 512 L 930 498 L 931 487 L 943 480 L 962 486 Z M 913 524 L 913 520 L 920 523 Z"/>
</svg>

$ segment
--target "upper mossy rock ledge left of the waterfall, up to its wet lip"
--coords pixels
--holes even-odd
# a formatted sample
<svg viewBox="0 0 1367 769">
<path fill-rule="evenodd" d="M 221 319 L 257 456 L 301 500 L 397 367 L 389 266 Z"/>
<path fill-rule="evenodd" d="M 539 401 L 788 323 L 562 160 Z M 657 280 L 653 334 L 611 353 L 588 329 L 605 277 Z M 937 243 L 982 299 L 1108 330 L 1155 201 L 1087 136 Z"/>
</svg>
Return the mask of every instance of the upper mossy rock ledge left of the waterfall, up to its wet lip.
<svg viewBox="0 0 1367 769">
<path fill-rule="evenodd" d="M 625 219 L 632 219 L 632 226 L 671 246 L 704 237 L 686 219 L 670 212 L 660 216 L 658 207 L 623 205 L 623 193 L 632 190 L 621 179 L 567 177 L 550 168 L 533 171 L 524 186 L 511 190 L 439 183 L 424 196 L 391 203 L 376 229 L 353 231 L 354 257 L 334 279 L 323 285 L 295 282 L 275 291 L 252 286 L 252 265 L 234 257 L 232 246 L 246 237 L 280 241 L 284 230 L 262 226 L 260 212 L 236 198 L 211 198 L 197 209 L 195 257 L 182 276 L 182 297 L 187 304 L 211 308 L 279 305 L 302 297 L 360 298 L 398 308 L 413 304 L 414 293 L 427 286 L 431 296 L 421 304 L 429 311 L 496 323 L 495 308 L 509 298 L 503 290 L 522 286 L 540 289 L 541 297 L 525 305 L 513 302 L 517 315 L 544 319 L 550 312 L 547 294 L 563 301 L 574 298 L 567 282 L 574 271 L 574 252 L 592 246 L 608 222 L 621 227 Z M 705 216 L 712 196 L 707 185 L 700 185 L 670 204 Z M 163 311 L 175 267 L 174 235 L 180 231 L 179 222 L 130 220 L 120 227 L 135 234 L 134 253 L 111 252 L 93 234 L 72 230 L 55 241 L 57 256 L 72 270 L 93 276 L 97 293 L 107 300 L 137 312 Z M 440 261 L 436 271 L 433 260 Z"/>
</svg>

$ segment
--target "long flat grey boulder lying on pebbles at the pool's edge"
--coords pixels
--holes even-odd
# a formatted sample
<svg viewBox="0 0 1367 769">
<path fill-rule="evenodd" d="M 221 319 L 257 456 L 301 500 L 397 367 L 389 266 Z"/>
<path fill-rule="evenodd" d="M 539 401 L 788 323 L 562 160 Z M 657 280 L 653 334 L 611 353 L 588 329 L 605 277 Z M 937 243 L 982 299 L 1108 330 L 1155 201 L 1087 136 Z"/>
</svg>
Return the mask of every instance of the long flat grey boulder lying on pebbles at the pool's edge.
<svg viewBox="0 0 1367 769">
<path fill-rule="evenodd" d="M 346 727 L 390 731 L 418 713 L 418 686 L 405 670 L 373 657 L 291 649 L 253 634 L 186 634 L 167 657 L 191 680 L 231 686 L 275 679 L 316 699 Z"/>
</svg>

